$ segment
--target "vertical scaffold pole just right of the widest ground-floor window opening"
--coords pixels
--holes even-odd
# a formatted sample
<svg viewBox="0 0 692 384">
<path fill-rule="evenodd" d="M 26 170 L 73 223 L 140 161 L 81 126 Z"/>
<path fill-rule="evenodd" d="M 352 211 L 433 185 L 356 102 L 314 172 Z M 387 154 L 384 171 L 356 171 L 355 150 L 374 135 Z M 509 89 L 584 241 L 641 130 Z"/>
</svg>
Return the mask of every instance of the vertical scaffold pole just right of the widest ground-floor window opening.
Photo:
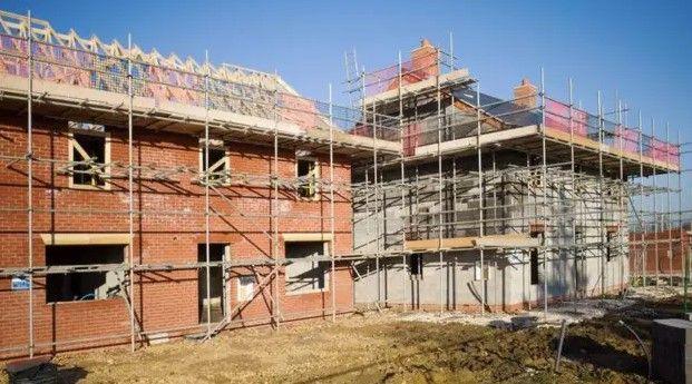
<svg viewBox="0 0 692 384">
<path fill-rule="evenodd" d="M 127 35 L 127 217 L 128 217 L 128 244 L 127 244 L 127 263 L 128 265 L 128 295 L 129 295 L 129 331 L 130 331 L 130 349 L 135 352 L 135 199 L 134 189 L 134 148 L 133 148 L 133 37 Z"/>
</svg>

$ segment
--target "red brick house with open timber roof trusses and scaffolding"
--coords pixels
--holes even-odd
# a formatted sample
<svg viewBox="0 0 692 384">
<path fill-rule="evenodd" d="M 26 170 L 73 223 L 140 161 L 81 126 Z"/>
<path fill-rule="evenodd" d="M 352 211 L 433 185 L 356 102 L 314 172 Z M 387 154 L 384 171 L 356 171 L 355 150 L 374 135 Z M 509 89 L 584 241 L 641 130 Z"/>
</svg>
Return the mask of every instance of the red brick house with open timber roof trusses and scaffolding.
<svg viewBox="0 0 692 384">
<path fill-rule="evenodd" d="M 1 354 L 353 308 L 359 110 L 1 16 Z"/>
</svg>

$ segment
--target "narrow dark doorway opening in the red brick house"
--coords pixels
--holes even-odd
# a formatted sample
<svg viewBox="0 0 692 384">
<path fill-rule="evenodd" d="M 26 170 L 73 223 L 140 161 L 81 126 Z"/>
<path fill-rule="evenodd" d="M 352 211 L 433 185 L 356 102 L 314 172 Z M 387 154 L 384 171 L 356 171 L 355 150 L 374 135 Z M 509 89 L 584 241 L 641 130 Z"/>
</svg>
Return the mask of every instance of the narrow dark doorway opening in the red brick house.
<svg viewBox="0 0 692 384">
<path fill-rule="evenodd" d="M 226 255 L 227 244 L 209 244 L 209 262 L 223 262 Z M 206 244 L 197 244 L 197 262 L 206 262 Z M 199 323 L 207 322 L 207 307 L 211 307 L 211 322 L 217 323 L 225 315 L 225 289 L 224 268 L 213 266 L 209 268 L 209 297 L 206 297 L 206 268 L 197 270 L 197 304 L 199 308 Z"/>
</svg>

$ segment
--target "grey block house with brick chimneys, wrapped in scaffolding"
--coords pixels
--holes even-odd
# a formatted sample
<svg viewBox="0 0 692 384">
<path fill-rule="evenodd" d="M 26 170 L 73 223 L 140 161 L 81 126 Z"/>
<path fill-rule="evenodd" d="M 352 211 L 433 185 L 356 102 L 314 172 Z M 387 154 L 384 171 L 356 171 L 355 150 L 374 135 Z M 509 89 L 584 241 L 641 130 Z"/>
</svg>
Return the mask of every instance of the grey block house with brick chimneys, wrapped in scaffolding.
<svg viewBox="0 0 692 384">
<path fill-rule="evenodd" d="M 402 126 L 400 159 L 353 169 L 354 249 L 412 255 L 359 266 L 357 303 L 483 313 L 622 292 L 632 195 L 652 193 L 630 181 L 680 175 L 679 146 L 622 106 L 611 121 L 601 95 L 593 115 L 523 79 L 503 100 L 451 62 L 423 40 L 353 82 Z"/>
</svg>

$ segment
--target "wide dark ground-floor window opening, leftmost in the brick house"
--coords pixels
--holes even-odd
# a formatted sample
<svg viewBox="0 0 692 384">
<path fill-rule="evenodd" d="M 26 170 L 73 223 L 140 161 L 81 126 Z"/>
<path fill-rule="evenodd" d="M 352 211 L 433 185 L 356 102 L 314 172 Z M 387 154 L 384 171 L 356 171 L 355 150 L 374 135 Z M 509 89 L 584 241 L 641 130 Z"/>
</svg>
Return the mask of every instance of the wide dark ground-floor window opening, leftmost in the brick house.
<svg viewBox="0 0 692 384">
<path fill-rule="evenodd" d="M 47 266 L 121 264 L 125 245 L 46 246 Z M 46 277 L 46 302 L 96 301 L 121 295 L 124 270 L 50 274 Z"/>
</svg>

